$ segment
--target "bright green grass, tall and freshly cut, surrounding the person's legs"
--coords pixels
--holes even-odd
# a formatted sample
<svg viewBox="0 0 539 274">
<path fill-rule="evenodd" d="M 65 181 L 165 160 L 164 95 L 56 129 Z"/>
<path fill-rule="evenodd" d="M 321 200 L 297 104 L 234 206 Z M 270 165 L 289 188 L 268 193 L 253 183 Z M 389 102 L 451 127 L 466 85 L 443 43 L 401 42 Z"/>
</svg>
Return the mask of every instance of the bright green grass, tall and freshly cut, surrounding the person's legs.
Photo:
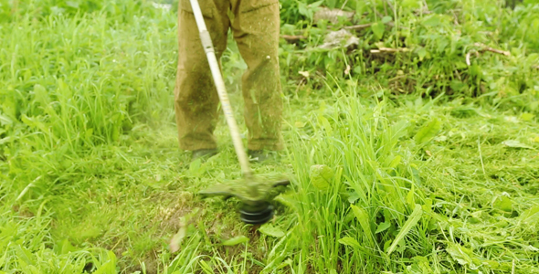
<svg viewBox="0 0 539 274">
<path fill-rule="evenodd" d="M 143 7 L 0 25 L 0 271 L 539 272 L 538 113 L 512 108 L 534 105 L 536 71 L 493 103 L 395 96 L 380 74 L 283 79 L 287 149 L 254 168 L 293 184 L 250 227 L 238 201 L 196 196 L 238 163 L 223 121 L 208 162 L 177 149 L 175 14 Z M 245 65 L 229 46 L 241 121 Z"/>
</svg>

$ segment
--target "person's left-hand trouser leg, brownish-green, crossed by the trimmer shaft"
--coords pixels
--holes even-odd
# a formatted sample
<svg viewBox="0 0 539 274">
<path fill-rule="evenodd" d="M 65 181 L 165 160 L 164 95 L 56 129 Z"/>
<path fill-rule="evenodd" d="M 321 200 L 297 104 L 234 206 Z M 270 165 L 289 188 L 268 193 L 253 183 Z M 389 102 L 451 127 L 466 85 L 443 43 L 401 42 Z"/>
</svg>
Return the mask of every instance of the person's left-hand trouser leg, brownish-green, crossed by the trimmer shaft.
<svg viewBox="0 0 539 274">
<path fill-rule="evenodd" d="M 202 0 L 199 3 L 217 58 L 220 58 L 227 47 L 229 20 L 223 8 L 229 2 Z M 178 42 L 174 111 L 180 148 L 188 151 L 216 149 L 213 132 L 219 99 L 188 0 L 179 3 Z"/>
</svg>

